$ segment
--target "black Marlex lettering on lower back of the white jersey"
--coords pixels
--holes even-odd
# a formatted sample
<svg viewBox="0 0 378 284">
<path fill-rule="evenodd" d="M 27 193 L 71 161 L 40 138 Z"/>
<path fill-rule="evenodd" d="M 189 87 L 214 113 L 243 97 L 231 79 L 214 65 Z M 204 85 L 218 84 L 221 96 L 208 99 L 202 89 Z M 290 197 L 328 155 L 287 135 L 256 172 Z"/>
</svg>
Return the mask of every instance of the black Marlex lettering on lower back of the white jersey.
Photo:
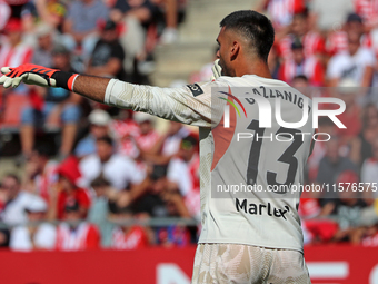
<svg viewBox="0 0 378 284">
<path fill-rule="evenodd" d="M 270 203 L 267 204 L 255 204 L 255 203 L 247 203 L 247 199 L 239 199 L 236 198 L 236 209 L 237 212 L 245 212 L 246 214 L 250 215 L 268 215 L 276 218 L 284 218 L 287 219 L 285 214 L 290 210 L 288 206 L 285 206 L 285 209 L 276 208 Z"/>
</svg>

